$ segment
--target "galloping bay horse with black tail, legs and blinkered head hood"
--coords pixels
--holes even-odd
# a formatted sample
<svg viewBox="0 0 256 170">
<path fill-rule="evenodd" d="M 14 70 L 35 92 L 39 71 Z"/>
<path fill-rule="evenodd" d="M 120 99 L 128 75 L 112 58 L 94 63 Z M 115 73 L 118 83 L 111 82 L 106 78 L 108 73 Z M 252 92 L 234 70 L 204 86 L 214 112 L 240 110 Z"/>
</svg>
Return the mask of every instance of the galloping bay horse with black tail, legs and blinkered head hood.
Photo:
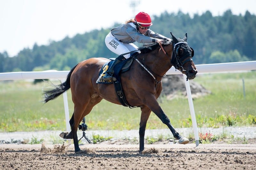
<svg viewBox="0 0 256 170">
<path fill-rule="evenodd" d="M 130 106 L 140 107 L 140 150 L 144 150 L 144 135 L 146 124 L 151 111 L 167 125 L 173 136 L 180 144 L 187 144 L 189 140 L 181 137 L 173 128 L 170 119 L 159 106 L 157 98 L 162 91 L 162 77 L 174 66 L 187 75 L 188 79 L 196 77 L 196 66 L 192 57 L 194 50 L 188 46 L 187 33 L 184 38 L 177 39 L 172 33 L 172 41 L 163 44 L 153 44 L 140 48 L 130 69 L 121 74 L 124 96 Z M 102 66 L 109 60 L 107 58 L 89 58 L 78 63 L 70 70 L 66 82 L 54 85 L 55 88 L 44 90 L 44 102 L 58 97 L 63 92 L 71 89 L 74 113 L 69 121 L 71 132 L 62 132 L 60 137 L 73 139 L 75 152 L 80 152 L 77 138 L 77 128 L 84 116 L 102 99 L 119 104 L 113 84 L 96 84 Z M 142 64 L 143 63 L 143 64 Z"/>
</svg>

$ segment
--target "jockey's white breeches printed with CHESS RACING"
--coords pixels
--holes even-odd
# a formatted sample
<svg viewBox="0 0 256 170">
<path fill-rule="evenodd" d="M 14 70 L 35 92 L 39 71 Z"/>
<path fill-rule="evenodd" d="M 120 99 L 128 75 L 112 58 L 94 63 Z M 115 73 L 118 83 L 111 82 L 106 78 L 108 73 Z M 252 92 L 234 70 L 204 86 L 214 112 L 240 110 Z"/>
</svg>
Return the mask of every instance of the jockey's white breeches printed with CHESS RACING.
<svg viewBox="0 0 256 170">
<path fill-rule="evenodd" d="M 110 49 L 110 51 L 116 53 L 117 55 L 121 55 L 139 49 L 133 43 L 126 44 L 121 41 L 118 41 L 111 33 L 108 33 L 108 35 L 106 36 L 105 43 L 108 49 Z M 127 59 L 130 57 L 130 54 L 126 54 L 124 55 L 124 57 Z"/>
</svg>

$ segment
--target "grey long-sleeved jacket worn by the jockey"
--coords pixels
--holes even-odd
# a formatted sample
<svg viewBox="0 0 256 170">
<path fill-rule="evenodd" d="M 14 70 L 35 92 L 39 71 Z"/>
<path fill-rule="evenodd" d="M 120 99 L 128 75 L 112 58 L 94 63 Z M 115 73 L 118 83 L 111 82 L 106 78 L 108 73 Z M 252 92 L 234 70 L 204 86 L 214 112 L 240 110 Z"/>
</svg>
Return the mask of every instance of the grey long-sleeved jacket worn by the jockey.
<svg viewBox="0 0 256 170">
<path fill-rule="evenodd" d="M 135 41 L 139 43 L 152 43 L 156 42 L 155 38 L 168 40 L 165 36 L 155 33 L 154 31 L 148 29 L 147 32 L 143 35 L 140 33 L 134 23 L 122 24 L 111 30 L 111 33 L 117 40 L 123 43 L 133 43 Z"/>
</svg>

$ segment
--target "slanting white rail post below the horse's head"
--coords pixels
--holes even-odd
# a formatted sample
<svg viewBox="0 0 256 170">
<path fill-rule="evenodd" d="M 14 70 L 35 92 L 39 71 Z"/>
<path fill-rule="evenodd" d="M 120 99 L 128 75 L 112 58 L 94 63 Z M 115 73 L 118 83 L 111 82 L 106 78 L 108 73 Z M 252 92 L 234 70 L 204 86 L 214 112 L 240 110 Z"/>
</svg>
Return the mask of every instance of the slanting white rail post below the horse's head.
<svg viewBox="0 0 256 170">
<path fill-rule="evenodd" d="M 187 95 L 188 95 L 188 105 L 189 105 L 190 115 L 191 115 L 191 119 L 192 119 L 192 125 L 193 125 L 195 140 L 196 140 L 196 146 L 198 146 L 199 145 L 199 136 L 198 136 L 198 129 L 197 129 L 197 124 L 196 124 L 196 115 L 195 115 L 195 110 L 194 110 L 190 85 L 189 85 L 189 81 L 187 81 L 187 76 L 185 74 L 183 74 L 183 77 L 184 77 L 186 90 L 187 90 Z"/>
</svg>

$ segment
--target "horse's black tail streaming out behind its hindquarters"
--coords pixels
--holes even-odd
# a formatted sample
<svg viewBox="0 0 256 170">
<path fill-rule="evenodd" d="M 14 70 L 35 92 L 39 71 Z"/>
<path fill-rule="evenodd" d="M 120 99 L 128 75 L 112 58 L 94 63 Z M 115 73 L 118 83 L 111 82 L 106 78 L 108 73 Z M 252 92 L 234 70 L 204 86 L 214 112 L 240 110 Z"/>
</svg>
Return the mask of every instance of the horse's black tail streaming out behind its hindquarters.
<svg viewBox="0 0 256 170">
<path fill-rule="evenodd" d="M 76 65 L 77 66 L 77 65 Z M 67 79 L 64 83 L 61 83 L 60 85 L 54 85 L 51 82 L 48 82 L 50 86 L 55 87 L 54 89 L 44 89 L 43 90 L 43 95 L 44 95 L 44 103 L 48 102 L 49 100 L 53 100 L 56 97 L 60 96 L 63 92 L 67 91 L 70 88 L 70 77 L 74 69 L 76 68 L 73 67 L 67 76 Z"/>
</svg>

